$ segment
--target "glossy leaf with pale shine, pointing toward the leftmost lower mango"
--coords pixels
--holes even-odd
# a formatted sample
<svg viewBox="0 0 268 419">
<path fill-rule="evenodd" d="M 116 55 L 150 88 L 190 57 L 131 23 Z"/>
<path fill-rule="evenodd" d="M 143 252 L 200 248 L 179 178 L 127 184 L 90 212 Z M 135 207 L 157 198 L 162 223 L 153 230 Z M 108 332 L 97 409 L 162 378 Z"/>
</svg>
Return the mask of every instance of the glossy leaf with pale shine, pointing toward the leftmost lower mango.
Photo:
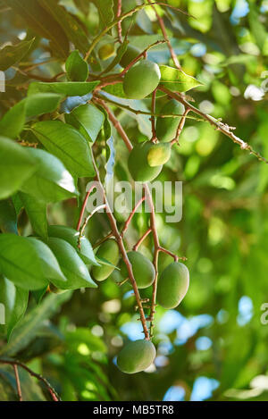
<svg viewBox="0 0 268 419">
<path fill-rule="evenodd" d="M 97 288 L 96 283 L 92 281 L 89 275 L 86 264 L 67 241 L 49 238 L 47 245 L 53 251 L 67 278 L 67 282 L 54 281 L 56 287 L 59 289 Z"/>
</svg>

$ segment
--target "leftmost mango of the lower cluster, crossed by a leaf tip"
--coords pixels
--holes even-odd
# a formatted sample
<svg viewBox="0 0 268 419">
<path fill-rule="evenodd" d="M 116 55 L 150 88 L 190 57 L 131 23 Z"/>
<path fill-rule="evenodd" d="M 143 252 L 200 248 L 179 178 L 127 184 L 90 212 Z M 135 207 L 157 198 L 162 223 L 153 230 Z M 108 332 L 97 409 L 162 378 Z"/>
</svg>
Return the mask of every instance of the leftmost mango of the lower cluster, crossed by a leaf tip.
<svg viewBox="0 0 268 419">
<path fill-rule="evenodd" d="M 113 239 L 105 241 L 105 243 L 98 248 L 96 256 L 104 258 L 106 261 L 110 262 L 110 264 L 116 266 L 119 261 L 119 248 L 116 241 Z M 96 281 L 105 281 L 114 269 L 113 266 L 108 265 L 94 266 L 92 274 Z"/>
</svg>

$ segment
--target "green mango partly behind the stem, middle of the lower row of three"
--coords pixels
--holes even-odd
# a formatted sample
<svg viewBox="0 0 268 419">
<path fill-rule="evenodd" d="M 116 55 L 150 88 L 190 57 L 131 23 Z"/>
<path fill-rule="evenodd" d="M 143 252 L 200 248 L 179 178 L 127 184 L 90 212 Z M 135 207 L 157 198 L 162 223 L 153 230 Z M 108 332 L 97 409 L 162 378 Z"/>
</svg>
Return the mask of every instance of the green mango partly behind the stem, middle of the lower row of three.
<svg viewBox="0 0 268 419">
<path fill-rule="evenodd" d="M 140 252 L 129 252 L 128 257 L 132 265 L 132 271 L 139 289 L 150 287 L 155 281 L 155 266 L 152 262 L 143 256 Z M 129 272 L 123 260 L 120 264 L 121 276 L 126 279 Z"/>
</svg>

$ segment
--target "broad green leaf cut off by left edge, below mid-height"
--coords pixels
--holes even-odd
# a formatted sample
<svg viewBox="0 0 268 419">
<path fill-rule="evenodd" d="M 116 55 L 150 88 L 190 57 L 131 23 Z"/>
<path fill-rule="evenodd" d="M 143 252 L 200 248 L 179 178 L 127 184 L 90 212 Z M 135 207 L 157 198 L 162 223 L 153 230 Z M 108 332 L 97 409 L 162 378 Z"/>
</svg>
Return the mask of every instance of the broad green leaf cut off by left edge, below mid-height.
<svg viewBox="0 0 268 419">
<path fill-rule="evenodd" d="M 0 235 L 0 272 L 21 289 L 41 289 L 48 283 L 35 247 L 14 234 Z"/>
</svg>

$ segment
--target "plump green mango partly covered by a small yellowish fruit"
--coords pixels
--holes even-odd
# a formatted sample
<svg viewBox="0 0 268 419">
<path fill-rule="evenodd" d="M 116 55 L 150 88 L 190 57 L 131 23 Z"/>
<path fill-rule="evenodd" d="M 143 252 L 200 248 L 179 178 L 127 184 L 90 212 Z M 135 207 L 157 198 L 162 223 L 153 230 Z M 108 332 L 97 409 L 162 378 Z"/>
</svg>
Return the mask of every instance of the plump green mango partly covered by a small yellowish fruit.
<svg viewBox="0 0 268 419">
<path fill-rule="evenodd" d="M 129 171 L 132 178 L 138 182 L 148 182 L 157 178 L 163 166 L 150 167 L 147 162 L 149 150 L 155 147 L 151 141 L 139 143 L 133 148 L 129 157 Z"/>
</svg>

